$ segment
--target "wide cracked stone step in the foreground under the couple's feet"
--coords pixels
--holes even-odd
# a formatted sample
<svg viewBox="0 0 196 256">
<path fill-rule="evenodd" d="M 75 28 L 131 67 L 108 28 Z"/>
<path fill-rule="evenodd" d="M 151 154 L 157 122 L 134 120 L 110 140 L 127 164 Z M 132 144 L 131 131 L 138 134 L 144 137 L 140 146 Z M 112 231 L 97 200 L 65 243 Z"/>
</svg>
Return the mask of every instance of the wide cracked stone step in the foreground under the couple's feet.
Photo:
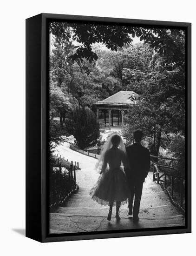
<svg viewBox="0 0 196 256">
<path fill-rule="evenodd" d="M 76 212 L 75 212 L 76 214 Z M 159 216 L 156 218 L 140 216 L 139 222 L 134 223 L 132 217 L 121 216 L 117 221 L 114 216 L 111 222 L 107 221 L 106 216 L 85 215 L 66 215 L 62 213 L 50 214 L 50 234 L 108 231 L 129 229 L 147 229 L 184 226 L 184 218 L 178 216 Z"/>
</svg>

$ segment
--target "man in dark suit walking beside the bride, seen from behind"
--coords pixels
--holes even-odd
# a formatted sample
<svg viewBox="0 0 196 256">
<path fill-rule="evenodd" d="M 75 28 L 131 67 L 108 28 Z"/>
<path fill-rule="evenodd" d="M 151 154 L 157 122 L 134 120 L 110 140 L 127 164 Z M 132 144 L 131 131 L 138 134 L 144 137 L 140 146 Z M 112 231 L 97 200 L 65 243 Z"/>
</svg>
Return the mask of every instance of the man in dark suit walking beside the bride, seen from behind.
<svg viewBox="0 0 196 256">
<path fill-rule="evenodd" d="M 133 213 L 133 221 L 138 222 L 139 206 L 142 196 L 143 182 L 150 169 L 150 152 L 141 145 L 143 133 L 134 132 L 135 143 L 126 148 L 129 167 L 125 169 L 127 182 L 131 191 L 129 197 L 129 215 Z M 134 198 L 135 197 L 135 198 Z M 134 199 L 134 206 L 133 206 Z"/>
</svg>

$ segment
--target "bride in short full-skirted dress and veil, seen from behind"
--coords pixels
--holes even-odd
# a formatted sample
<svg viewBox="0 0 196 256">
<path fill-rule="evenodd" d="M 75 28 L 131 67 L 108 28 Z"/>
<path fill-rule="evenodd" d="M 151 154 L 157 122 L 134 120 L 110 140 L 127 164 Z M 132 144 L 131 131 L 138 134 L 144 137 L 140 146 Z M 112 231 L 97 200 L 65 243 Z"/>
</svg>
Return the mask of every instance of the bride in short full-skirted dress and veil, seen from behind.
<svg viewBox="0 0 196 256">
<path fill-rule="evenodd" d="M 127 202 L 129 189 L 126 175 L 122 168 L 126 167 L 126 150 L 120 135 L 112 134 L 102 148 L 95 168 L 100 171 L 98 182 L 91 189 L 93 200 L 101 205 L 109 205 L 108 221 L 111 220 L 112 207 L 116 204 L 116 218 L 120 219 L 120 205 Z"/>
</svg>

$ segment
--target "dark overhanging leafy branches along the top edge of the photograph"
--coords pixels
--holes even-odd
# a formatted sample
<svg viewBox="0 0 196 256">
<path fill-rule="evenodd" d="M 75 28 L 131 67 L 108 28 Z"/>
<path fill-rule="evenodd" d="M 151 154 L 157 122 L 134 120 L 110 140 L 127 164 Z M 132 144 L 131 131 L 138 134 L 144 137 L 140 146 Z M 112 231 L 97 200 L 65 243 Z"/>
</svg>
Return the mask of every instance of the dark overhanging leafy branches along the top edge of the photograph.
<svg viewBox="0 0 196 256">
<path fill-rule="evenodd" d="M 51 22 L 50 33 L 63 40 L 73 38 L 80 43 L 72 59 L 81 62 L 84 58 L 90 62 L 98 60 L 98 55 L 92 50 L 93 43 L 102 42 L 108 49 L 117 51 L 119 47 L 130 45 L 135 36 L 144 43 L 149 43 L 158 54 L 167 58 L 168 63 L 180 62 L 179 56 L 183 61 L 184 56 L 184 30 Z"/>
</svg>

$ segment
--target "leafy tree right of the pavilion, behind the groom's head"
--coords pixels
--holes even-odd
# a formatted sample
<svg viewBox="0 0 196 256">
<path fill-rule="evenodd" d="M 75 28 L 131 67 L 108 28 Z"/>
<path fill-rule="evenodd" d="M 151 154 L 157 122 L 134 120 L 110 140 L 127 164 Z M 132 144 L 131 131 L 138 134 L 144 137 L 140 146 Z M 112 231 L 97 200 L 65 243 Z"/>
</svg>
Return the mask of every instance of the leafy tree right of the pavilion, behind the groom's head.
<svg viewBox="0 0 196 256">
<path fill-rule="evenodd" d="M 135 108 L 130 108 L 126 117 L 128 126 L 124 136 L 132 141 L 132 132 L 143 130 L 152 155 L 158 155 L 160 146 L 168 146 L 171 133 L 185 131 L 183 88 L 179 89 L 176 85 L 175 72 L 144 75 L 143 101 Z"/>
</svg>

